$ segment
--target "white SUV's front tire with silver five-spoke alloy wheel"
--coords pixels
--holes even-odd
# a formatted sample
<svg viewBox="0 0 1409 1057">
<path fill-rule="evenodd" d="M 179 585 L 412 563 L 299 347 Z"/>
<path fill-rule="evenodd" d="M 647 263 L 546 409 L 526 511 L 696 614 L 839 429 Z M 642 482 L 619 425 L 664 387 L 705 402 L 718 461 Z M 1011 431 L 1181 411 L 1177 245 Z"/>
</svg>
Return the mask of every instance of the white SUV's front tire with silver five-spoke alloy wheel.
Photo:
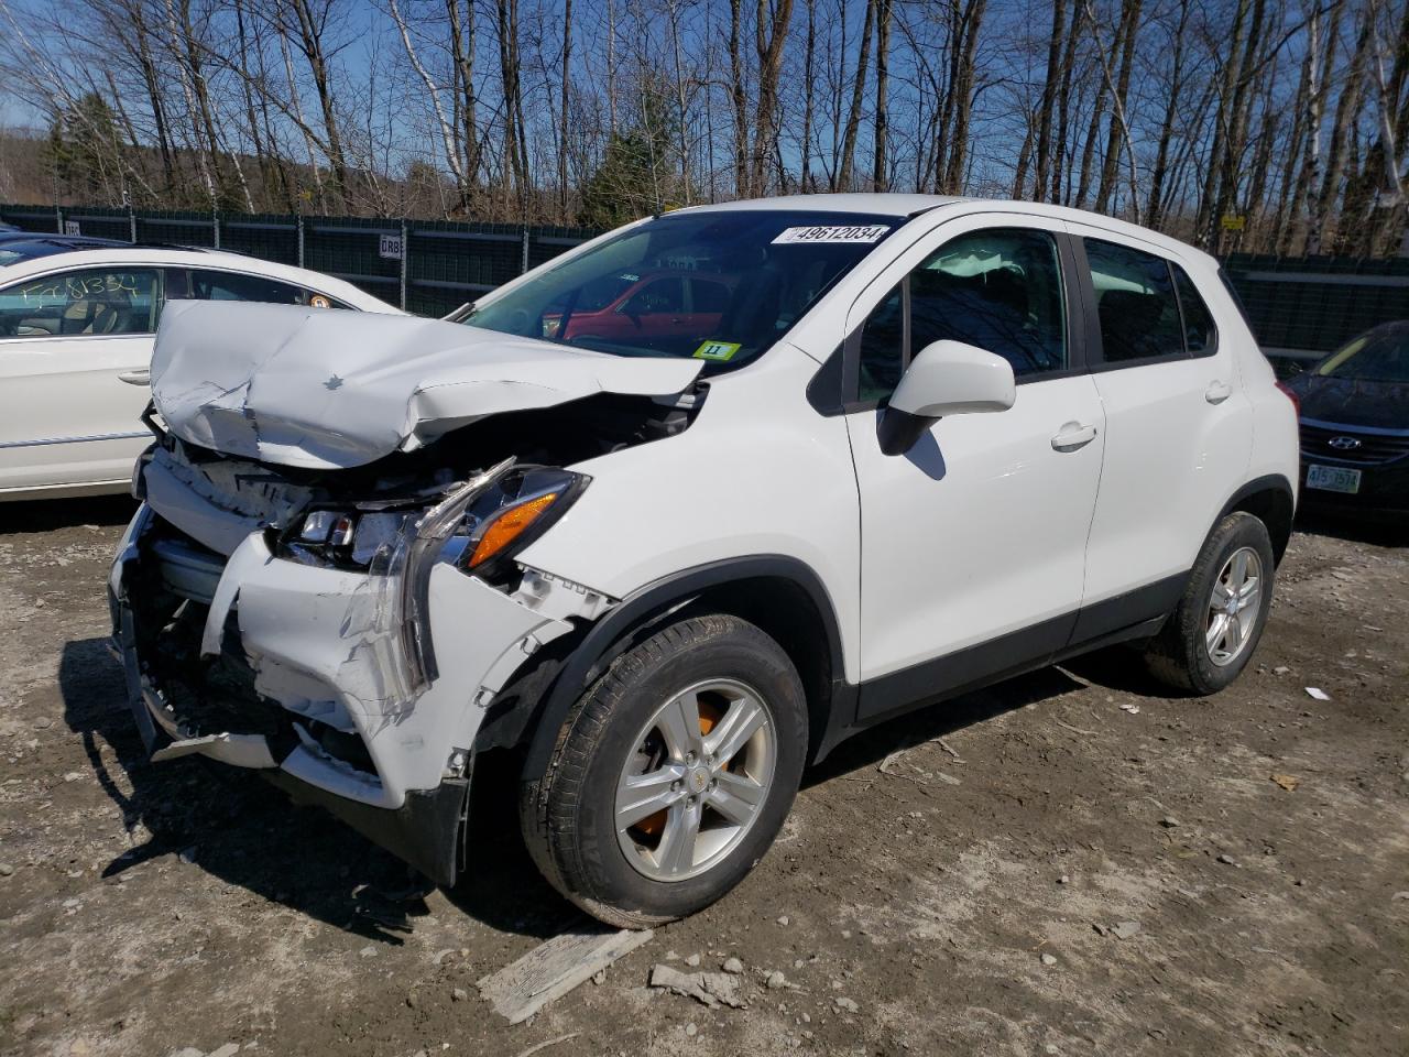
<svg viewBox="0 0 1409 1057">
<path fill-rule="evenodd" d="M 802 778 L 807 706 L 754 624 L 679 620 L 623 653 L 573 705 L 524 840 L 548 881 L 609 925 L 709 906 L 762 858 Z"/>
</svg>

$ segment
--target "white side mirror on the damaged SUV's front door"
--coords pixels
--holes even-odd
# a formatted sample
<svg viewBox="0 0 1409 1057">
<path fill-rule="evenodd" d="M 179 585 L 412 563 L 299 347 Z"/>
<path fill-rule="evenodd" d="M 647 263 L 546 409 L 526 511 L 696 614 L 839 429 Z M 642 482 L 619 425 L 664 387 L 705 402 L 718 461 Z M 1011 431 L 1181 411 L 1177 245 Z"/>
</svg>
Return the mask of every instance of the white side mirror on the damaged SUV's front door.
<svg viewBox="0 0 1409 1057">
<path fill-rule="evenodd" d="M 947 414 L 1006 412 L 1017 386 L 1013 366 L 962 341 L 936 341 L 910 361 L 881 417 L 881 451 L 903 455 Z"/>
</svg>

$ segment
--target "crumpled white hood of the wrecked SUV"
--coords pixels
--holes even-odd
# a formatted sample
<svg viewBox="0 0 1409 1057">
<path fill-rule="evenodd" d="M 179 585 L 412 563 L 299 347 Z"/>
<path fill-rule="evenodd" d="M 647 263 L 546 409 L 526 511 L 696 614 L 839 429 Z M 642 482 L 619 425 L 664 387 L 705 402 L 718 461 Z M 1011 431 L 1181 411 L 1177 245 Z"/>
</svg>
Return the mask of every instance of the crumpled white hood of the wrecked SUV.
<svg viewBox="0 0 1409 1057">
<path fill-rule="evenodd" d="M 175 300 L 156 331 L 152 396 L 192 444 L 335 469 L 502 412 L 602 392 L 671 396 L 702 366 L 414 316 Z"/>
</svg>

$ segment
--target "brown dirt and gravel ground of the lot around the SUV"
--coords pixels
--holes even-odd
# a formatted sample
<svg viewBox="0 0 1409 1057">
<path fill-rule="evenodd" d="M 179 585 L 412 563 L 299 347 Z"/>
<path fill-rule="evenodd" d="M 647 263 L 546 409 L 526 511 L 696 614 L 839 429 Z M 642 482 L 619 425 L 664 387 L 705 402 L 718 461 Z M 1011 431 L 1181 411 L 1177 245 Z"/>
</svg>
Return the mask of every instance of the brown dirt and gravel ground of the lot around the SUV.
<svg viewBox="0 0 1409 1057">
<path fill-rule="evenodd" d="M 139 762 L 101 593 L 127 505 L 0 513 L 0 1053 L 1409 1051 L 1388 537 L 1299 533 L 1217 698 L 1102 657 L 844 746 L 740 891 L 509 1027 L 475 981 L 573 920 L 509 795 L 479 792 L 472 879 L 423 898 L 252 775 Z M 647 988 L 693 954 L 743 961 L 747 1009 Z"/>
</svg>

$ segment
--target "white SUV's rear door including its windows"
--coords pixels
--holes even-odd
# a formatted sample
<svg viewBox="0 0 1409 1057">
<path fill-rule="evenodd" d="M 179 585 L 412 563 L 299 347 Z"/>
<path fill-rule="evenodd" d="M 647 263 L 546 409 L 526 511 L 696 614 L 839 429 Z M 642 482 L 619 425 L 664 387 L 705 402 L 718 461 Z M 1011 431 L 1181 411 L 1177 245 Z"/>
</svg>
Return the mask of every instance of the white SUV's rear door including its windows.
<svg viewBox="0 0 1409 1057">
<path fill-rule="evenodd" d="M 1100 228 L 1068 230 L 1079 237 L 1107 431 L 1076 631 L 1085 638 L 1172 607 L 1182 574 L 1244 481 L 1253 437 L 1231 338 L 1220 340 L 1179 262 Z"/>
</svg>

